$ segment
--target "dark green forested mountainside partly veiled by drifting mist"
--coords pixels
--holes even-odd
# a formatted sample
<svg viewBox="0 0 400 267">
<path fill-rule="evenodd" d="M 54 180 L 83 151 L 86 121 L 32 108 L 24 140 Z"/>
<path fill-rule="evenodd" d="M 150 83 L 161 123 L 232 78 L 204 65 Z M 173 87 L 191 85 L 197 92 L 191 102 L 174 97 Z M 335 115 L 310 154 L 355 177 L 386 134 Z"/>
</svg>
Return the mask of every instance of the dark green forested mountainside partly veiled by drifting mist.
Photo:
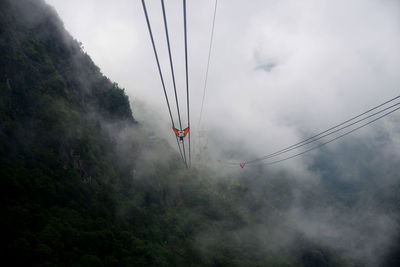
<svg viewBox="0 0 400 267">
<path fill-rule="evenodd" d="M 186 170 L 53 8 L 0 0 L 10 266 L 398 266 L 400 167 L 388 129 L 398 132 L 396 121 L 322 150 L 309 179 Z"/>
</svg>

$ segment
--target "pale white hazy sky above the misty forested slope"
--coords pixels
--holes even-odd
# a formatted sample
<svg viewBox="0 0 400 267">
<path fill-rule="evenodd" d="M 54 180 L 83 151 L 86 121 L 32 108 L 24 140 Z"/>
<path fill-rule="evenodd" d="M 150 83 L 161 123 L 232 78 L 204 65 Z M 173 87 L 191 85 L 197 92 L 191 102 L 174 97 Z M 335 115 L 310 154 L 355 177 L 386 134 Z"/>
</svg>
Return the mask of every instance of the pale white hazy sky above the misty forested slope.
<svg viewBox="0 0 400 267">
<path fill-rule="evenodd" d="M 126 89 L 134 112 L 135 102 L 144 101 L 169 130 L 141 1 L 46 1 L 103 73 Z M 186 123 L 182 1 L 165 2 Z M 196 130 L 214 0 L 187 2 Z M 147 5 L 173 101 L 161 4 Z M 398 95 L 399 47 L 397 0 L 219 0 L 204 127 L 260 155 L 290 145 L 300 133 L 324 130 Z"/>
</svg>

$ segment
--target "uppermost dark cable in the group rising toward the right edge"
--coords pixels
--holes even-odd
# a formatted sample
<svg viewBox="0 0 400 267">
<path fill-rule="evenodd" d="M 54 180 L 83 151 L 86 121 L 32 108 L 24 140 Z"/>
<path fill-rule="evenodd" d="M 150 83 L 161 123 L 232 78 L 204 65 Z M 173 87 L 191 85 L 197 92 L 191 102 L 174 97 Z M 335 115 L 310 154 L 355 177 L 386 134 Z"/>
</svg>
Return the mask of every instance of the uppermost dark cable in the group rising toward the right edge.
<svg viewBox="0 0 400 267">
<path fill-rule="evenodd" d="M 365 112 L 363 112 L 363 113 L 361 113 L 361 114 L 359 114 L 359 115 L 357 115 L 357 116 L 354 116 L 354 117 L 352 117 L 352 118 L 350 118 L 350 119 L 348 119 L 348 120 L 346 120 L 346 121 L 344 121 L 344 122 L 342 122 L 342 123 L 340 123 L 340 124 L 337 124 L 337 125 L 335 125 L 335 126 L 329 128 L 329 129 L 327 129 L 327 130 L 325 130 L 325 131 L 322 131 L 322 132 L 320 132 L 320 133 L 318 133 L 318 134 L 316 134 L 316 135 L 314 135 L 314 136 L 311 136 L 311 137 L 309 137 L 309 138 L 307 138 L 307 139 L 305 139 L 305 140 L 303 140 L 303 141 L 301 141 L 301 142 L 298 142 L 298 143 L 296 143 L 296 144 L 294 144 L 294 145 L 288 146 L 288 147 L 286 147 L 286 148 L 283 148 L 283 149 L 281 149 L 281 150 L 278 150 L 278 151 L 276 151 L 276 152 L 274 152 L 274 153 L 271 153 L 271 154 L 268 154 L 268 155 L 266 155 L 266 156 L 263 156 L 263 157 L 260 157 L 260 158 L 254 159 L 254 160 L 246 161 L 245 163 L 246 163 L 246 164 L 250 164 L 250 163 L 262 161 L 262 160 L 265 160 L 265 159 L 268 159 L 268 158 L 271 158 L 271 157 L 275 157 L 275 156 L 281 155 L 281 154 L 283 154 L 283 153 L 289 152 L 289 151 L 291 151 L 291 150 L 294 150 L 294 149 L 296 149 L 296 148 L 299 148 L 299 147 L 304 146 L 304 145 L 306 145 L 306 144 L 309 144 L 309 143 L 311 143 L 311 142 L 317 141 L 317 140 L 319 140 L 319 139 L 321 139 L 321 138 L 323 138 L 323 137 L 326 137 L 326 136 L 328 136 L 328 135 L 330 135 L 330 134 L 332 134 L 332 133 L 338 132 L 339 130 L 342 130 L 342 129 L 347 128 L 347 127 L 349 127 L 349 126 L 351 126 L 351 125 L 354 125 L 355 123 L 353 123 L 353 124 L 351 124 L 351 125 L 349 125 L 349 126 L 343 127 L 343 128 L 341 128 L 341 129 L 339 129 L 339 130 L 336 130 L 336 131 L 334 131 L 334 132 L 332 132 L 332 133 L 330 133 L 330 134 L 326 134 L 326 133 L 331 132 L 331 131 L 334 130 L 334 129 L 339 128 L 340 126 L 343 126 L 343 125 L 345 125 L 345 124 L 347 124 L 347 123 L 349 123 L 349 122 L 351 122 L 351 121 L 353 121 L 353 120 L 355 120 L 355 119 L 357 119 L 357 118 L 360 118 L 360 117 L 362 117 L 362 116 L 364 116 L 364 115 L 370 113 L 370 112 L 373 111 L 373 110 L 376 110 L 376 109 L 378 109 L 378 108 L 380 108 L 380 107 L 382 107 L 382 106 L 384 106 L 384 105 L 386 105 L 386 104 L 388 104 L 388 103 L 390 103 L 390 102 L 393 102 L 394 100 L 396 100 L 396 99 L 398 99 L 398 98 L 400 98 L 400 96 L 394 97 L 394 98 L 392 98 L 392 99 L 390 99 L 390 100 L 388 100 L 388 101 L 386 101 L 386 102 L 384 102 L 384 103 L 382 103 L 382 104 L 380 104 L 380 105 L 378 105 L 378 106 L 375 106 L 375 107 L 373 107 L 373 108 L 371 108 L 371 109 L 369 109 L 369 110 L 367 110 L 367 111 L 365 111 Z M 396 104 L 396 105 L 398 105 L 398 104 Z M 385 110 L 387 110 L 387 109 L 385 109 Z M 383 111 L 385 111 L 385 110 L 383 110 Z M 380 111 L 380 112 L 383 112 L 383 111 Z M 380 113 L 380 112 L 378 112 L 378 113 Z M 376 115 L 376 114 L 375 114 L 375 115 Z M 371 116 L 369 116 L 369 117 L 371 117 Z M 367 117 L 367 118 L 369 118 L 369 117 Z M 365 120 L 365 119 L 367 119 L 367 118 L 364 118 L 364 119 L 362 119 L 362 120 Z M 360 121 L 362 121 L 362 120 L 360 120 Z M 360 122 L 360 121 L 358 121 L 358 122 Z M 357 122 L 357 123 L 358 123 L 358 122 Z M 325 134 L 325 135 L 324 135 L 324 134 Z M 322 135 L 323 135 L 323 136 L 322 136 Z M 322 136 L 322 137 L 321 137 L 321 136 Z"/>
</svg>

